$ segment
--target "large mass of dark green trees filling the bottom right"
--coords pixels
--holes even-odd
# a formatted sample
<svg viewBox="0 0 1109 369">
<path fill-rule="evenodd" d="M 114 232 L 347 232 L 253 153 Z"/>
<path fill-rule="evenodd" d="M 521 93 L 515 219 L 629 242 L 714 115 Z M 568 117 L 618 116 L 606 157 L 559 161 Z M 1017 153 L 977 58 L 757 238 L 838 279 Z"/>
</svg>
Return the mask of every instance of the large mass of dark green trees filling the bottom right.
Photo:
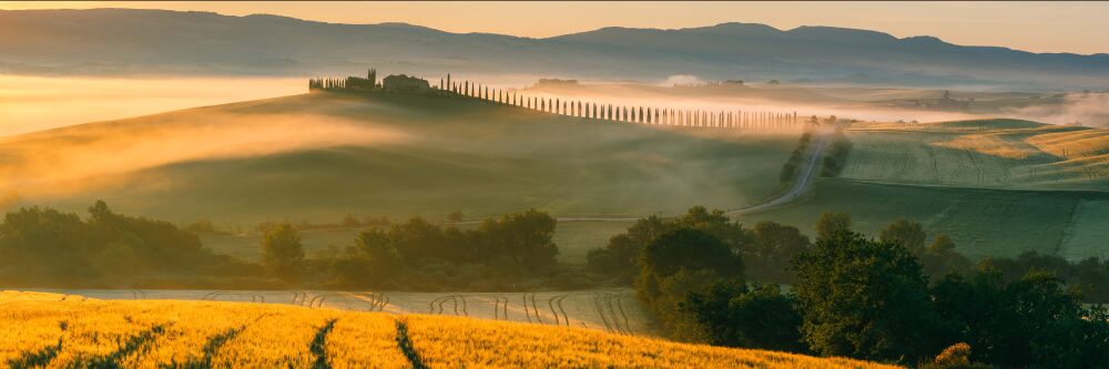
<svg viewBox="0 0 1109 369">
<path fill-rule="evenodd" d="M 918 224 L 896 221 L 873 239 L 853 232 L 846 214 L 825 214 L 816 242 L 792 257 L 783 293 L 749 283 L 744 266 L 754 259 L 730 244 L 737 233 L 722 238 L 683 219 L 699 213 L 663 223 L 633 266 L 639 297 L 673 338 L 928 367 L 1109 365 L 1109 314 L 1038 269 L 1050 258 L 971 265 L 945 236 L 925 246 Z M 632 230 L 625 236 L 645 235 Z M 943 275 L 929 277 L 928 263 Z"/>
</svg>

